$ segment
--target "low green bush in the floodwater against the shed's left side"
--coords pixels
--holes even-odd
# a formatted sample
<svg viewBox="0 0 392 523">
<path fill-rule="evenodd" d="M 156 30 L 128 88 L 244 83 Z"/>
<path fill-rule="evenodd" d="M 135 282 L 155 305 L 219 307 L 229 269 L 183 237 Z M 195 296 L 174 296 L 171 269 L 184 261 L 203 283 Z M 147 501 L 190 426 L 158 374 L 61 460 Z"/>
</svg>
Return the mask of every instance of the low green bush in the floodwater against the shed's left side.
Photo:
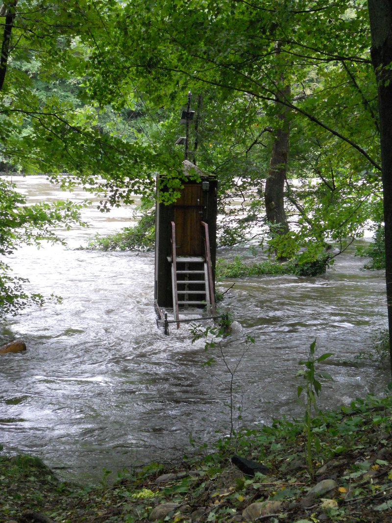
<svg viewBox="0 0 392 523">
<path fill-rule="evenodd" d="M 155 243 L 155 211 L 145 214 L 133 227 L 108 236 L 97 235 L 87 249 L 92 251 L 152 251 Z"/>
</svg>

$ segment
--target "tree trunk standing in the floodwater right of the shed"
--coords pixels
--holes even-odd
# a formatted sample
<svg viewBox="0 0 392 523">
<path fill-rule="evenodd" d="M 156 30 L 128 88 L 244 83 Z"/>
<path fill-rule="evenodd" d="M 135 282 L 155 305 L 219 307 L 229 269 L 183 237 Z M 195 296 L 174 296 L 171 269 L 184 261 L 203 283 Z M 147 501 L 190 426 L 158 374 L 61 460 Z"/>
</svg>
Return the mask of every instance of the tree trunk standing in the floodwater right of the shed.
<svg viewBox="0 0 392 523">
<path fill-rule="evenodd" d="M 284 87 L 282 96 L 284 99 L 290 98 L 290 85 Z M 287 118 L 289 109 L 284 105 L 280 105 L 278 110 L 279 126 L 274 131 L 274 141 L 264 194 L 267 220 L 273 224 L 271 227 L 273 236 L 289 232 L 283 197 L 287 160 L 289 159 L 290 123 Z"/>
</svg>

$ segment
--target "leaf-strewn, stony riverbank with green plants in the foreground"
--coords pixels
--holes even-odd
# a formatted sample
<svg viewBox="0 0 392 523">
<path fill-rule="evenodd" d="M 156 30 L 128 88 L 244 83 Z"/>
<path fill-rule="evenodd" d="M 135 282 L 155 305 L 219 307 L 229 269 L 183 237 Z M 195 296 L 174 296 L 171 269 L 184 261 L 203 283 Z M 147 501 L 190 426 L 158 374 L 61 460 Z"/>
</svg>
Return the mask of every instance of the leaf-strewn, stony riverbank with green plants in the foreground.
<svg viewBox="0 0 392 523">
<path fill-rule="evenodd" d="M 64 483 L 38 458 L 0 453 L 0 519 L 88 521 L 372 521 L 392 518 L 392 396 L 367 396 L 312 421 L 276 420 L 172 466 L 151 463 L 99 485 Z M 244 474 L 233 454 L 268 470 Z"/>
</svg>

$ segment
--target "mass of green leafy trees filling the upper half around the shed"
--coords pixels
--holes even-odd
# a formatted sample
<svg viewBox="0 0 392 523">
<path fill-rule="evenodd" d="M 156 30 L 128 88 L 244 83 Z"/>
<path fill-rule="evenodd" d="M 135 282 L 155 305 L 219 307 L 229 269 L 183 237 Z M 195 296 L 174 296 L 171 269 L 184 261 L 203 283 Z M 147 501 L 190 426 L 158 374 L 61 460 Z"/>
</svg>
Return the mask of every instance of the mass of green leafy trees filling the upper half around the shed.
<svg viewBox="0 0 392 523">
<path fill-rule="evenodd" d="M 282 236 L 271 248 L 312 260 L 373 217 L 381 167 L 362 1 L 19 0 L 6 11 L 0 154 L 26 172 L 71 173 L 103 207 L 151 191 L 156 171 L 175 179 L 190 89 L 203 95 L 194 159 L 222 196 L 258 192 L 233 241 L 266 210 Z M 142 126 L 113 127 L 113 110 L 139 111 Z"/>
</svg>

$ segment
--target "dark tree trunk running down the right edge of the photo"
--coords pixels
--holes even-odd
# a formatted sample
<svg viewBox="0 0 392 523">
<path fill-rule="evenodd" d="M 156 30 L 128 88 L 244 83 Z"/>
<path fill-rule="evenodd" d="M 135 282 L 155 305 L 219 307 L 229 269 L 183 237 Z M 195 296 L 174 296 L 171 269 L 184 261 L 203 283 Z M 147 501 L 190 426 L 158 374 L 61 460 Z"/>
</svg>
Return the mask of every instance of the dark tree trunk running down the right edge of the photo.
<svg viewBox="0 0 392 523">
<path fill-rule="evenodd" d="M 372 62 L 377 78 L 384 195 L 385 272 L 392 374 L 392 0 L 368 0 Z"/>
</svg>

